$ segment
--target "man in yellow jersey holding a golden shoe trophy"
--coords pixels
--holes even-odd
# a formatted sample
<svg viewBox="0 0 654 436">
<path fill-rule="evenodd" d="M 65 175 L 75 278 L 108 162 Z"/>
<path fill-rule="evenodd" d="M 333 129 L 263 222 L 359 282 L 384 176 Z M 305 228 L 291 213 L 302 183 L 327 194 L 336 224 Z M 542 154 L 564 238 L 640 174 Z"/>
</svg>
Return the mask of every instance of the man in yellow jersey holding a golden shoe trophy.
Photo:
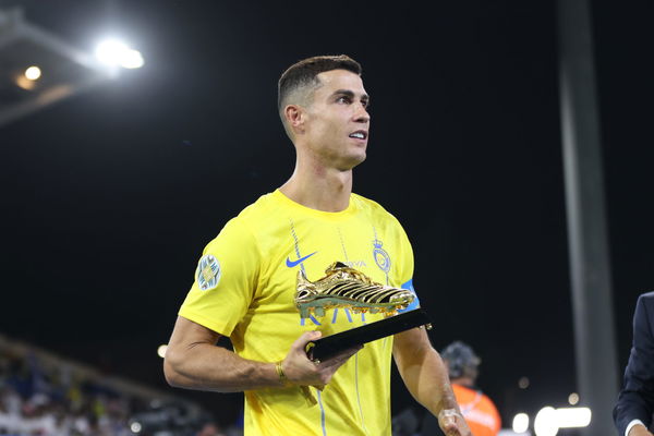
<svg viewBox="0 0 654 436">
<path fill-rule="evenodd" d="M 305 59 L 281 75 L 278 90 L 295 170 L 205 247 L 166 352 L 168 383 L 244 391 L 250 436 L 389 436 L 392 354 L 411 393 L 446 434 L 470 435 L 424 329 L 319 363 L 307 359 L 307 342 L 384 315 L 339 307 L 300 316 L 299 270 L 316 281 L 338 261 L 414 292 L 413 253 L 392 215 L 352 193 L 352 169 L 366 157 L 371 121 L 361 65 L 347 56 Z M 407 310 L 415 307 L 417 299 Z M 233 352 L 216 347 L 221 336 L 231 339 Z"/>
</svg>

